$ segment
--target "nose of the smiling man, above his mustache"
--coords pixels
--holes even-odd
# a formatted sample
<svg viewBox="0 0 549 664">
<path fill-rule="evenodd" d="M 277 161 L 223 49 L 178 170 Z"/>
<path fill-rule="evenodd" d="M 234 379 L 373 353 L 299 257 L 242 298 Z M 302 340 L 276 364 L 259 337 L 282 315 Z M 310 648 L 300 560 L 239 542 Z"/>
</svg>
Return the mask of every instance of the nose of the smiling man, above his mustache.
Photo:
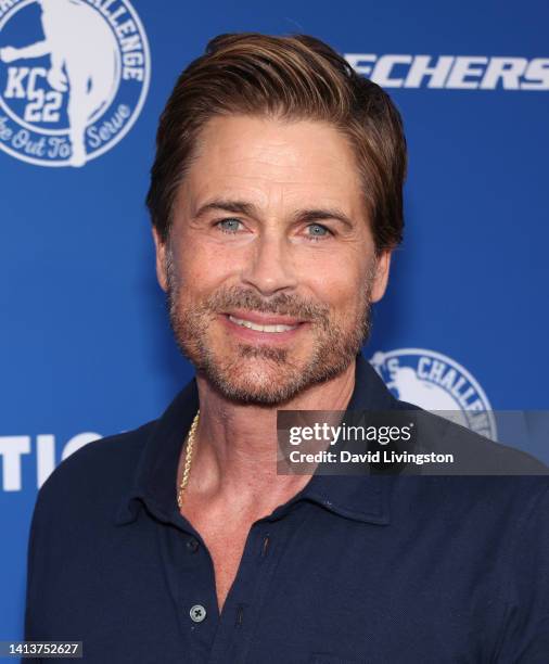
<svg viewBox="0 0 549 664">
<path fill-rule="evenodd" d="M 242 270 L 243 283 L 263 295 L 291 290 L 297 285 L 292 247 L 284 237 L 261 234 L 251 246 Z"/>
</svg>

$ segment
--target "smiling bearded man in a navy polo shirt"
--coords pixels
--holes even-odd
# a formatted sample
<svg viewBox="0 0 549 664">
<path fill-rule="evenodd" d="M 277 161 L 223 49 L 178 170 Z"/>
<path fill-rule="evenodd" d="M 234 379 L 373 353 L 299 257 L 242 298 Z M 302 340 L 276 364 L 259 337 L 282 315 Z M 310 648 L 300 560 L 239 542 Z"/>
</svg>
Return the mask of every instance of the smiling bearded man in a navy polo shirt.
<svg viewBox="0 0 549 664">
<path fill-rule="evenodd" d="M 89 662 L 547 662 L 545 477 L 277 473 L 279 411 L 406 407 L 360 354 L 401 239 L 398 112 L 321 41 L 221 35 L 148 204 L 195 378 L 42 486 L 27 639 Z"/>
</svg>

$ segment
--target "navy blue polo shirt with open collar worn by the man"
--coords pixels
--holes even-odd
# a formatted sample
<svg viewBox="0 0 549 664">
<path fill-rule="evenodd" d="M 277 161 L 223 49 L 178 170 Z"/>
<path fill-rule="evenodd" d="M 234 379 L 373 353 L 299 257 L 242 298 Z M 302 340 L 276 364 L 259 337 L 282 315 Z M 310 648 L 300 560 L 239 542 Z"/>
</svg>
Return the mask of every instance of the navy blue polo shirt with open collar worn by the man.
<svg viewBox="0 0 549 664">
<path fill-rule="evenodd" d="M 359 355 L 348 408 L 398 404 Z M 26 639 L 79 640 L 101 664 L 549 662 L 542 476 L 314 475 L 252 525 L 219 615 L 176 502 L 197 407 L 193 379 L 158 420 L 43 484 Z"/>
</svg>

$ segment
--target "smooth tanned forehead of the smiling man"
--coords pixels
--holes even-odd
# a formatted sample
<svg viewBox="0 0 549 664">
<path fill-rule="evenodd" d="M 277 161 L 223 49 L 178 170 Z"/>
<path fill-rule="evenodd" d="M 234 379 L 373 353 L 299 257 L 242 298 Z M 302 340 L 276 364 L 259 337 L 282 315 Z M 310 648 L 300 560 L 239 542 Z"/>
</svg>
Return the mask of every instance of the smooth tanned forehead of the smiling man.
<svg viewBox="0 0 549 664">
<path fill-rule="evenodd" d="M 334 204 L 352 214 L 362 195 L 356 159 L 337 129 L 317 120 L 216 116 L 202 129 L 182 189 L 201 205 L 212 195 L 258 206 Z"/>
</svg>

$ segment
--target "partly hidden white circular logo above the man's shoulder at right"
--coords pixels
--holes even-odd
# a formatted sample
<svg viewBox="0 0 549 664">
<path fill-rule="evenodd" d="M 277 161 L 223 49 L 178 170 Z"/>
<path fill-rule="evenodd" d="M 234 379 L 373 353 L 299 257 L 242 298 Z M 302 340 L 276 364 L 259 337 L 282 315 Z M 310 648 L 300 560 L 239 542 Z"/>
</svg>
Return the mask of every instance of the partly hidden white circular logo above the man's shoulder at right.
<svg viewBox="0 0 549 664">
<path fill-rule="evenodd" d="M 396 398 L 497 440 L 496 420 L 484 390 L 450 357 L 424 348 L 378 352 L 370 359 Z"/>
</svg>

